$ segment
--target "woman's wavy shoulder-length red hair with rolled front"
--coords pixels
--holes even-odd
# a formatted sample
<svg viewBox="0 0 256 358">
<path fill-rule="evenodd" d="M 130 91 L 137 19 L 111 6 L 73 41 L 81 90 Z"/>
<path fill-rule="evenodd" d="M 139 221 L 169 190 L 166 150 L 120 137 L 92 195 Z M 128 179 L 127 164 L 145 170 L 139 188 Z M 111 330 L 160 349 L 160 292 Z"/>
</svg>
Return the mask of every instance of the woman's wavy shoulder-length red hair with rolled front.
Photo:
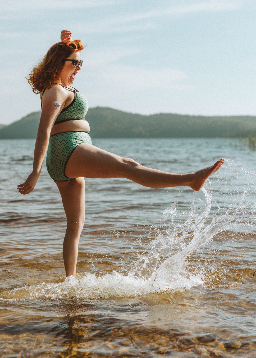
<svg viewBox="0 0 256 358">
<path fill-rule="evenodd" d="M 34 93 L 40 93 L 44 88 L 50 88 L 52 84 L 60 84 L 60 72 L 65 64 L 65 59 L 72 52 L 80 51 L 84 47 L 80 40 L 71 42 L 58 42 L 54 44 L 44 56 L 43 61 L 29 74 L 27 80 Z"/>
</svg>

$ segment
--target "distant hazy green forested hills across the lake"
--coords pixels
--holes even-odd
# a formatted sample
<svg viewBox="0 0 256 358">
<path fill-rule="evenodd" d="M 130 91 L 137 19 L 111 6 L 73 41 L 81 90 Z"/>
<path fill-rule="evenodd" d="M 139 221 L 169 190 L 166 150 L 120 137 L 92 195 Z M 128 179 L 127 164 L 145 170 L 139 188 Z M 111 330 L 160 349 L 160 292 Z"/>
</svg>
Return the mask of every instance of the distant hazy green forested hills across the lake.
<svg viewBox="0 0 256 358">
<path fill-rule="evenodd" d="M 35 138 L 41 111 L 0 127 L 0 139 Z M 92 138 L 211 138 L 256 135 L 253 116 L 189 116 L 174 113 L 140 115 L 108 107 L 86 115 Z"/>
</svg>

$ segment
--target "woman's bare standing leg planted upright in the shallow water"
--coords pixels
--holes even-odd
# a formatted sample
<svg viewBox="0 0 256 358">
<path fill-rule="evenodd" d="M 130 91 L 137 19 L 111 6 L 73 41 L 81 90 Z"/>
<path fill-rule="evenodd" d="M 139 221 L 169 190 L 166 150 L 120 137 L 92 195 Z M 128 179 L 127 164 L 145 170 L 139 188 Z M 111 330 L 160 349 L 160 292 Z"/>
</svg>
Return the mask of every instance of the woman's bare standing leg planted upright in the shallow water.
<svg viewBox="0 0 256 358">
<path fill-rule="evenodd" d="M 66 276 L 76 274 L 76 261 L 80 234 L 85 221 L 85 181 L 76 178 L 67 182 L 55 182 L 60 190 L 67 217 L 67 229 L 63 241 L 63 260 Z"/>
</svg>

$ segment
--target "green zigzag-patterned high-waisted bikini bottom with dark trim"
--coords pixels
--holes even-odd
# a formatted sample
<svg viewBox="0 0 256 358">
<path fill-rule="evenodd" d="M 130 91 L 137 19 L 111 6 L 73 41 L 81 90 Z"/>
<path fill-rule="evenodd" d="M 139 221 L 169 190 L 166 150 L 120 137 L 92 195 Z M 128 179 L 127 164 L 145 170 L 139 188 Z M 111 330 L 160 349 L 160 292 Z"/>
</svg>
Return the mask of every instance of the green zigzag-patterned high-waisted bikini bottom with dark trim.
<svg viewBox="0 0 256 358">
<path fill-rule="evenodd" d="M 46 166 L 53 180 L 63 182 L 74 179 L 65 175 L 65 169 L 74 149 L 82 143 L 92 144 L 91 137 L 84 131 L 64 132 L 50 136 Z"/>
</svg>

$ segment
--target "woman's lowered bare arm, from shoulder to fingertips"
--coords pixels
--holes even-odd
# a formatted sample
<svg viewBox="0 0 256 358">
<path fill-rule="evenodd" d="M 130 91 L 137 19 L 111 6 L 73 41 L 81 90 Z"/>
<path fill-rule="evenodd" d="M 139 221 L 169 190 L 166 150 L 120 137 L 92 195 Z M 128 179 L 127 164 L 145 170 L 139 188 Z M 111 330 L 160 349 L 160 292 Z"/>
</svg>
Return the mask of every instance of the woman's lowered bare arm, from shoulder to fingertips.
<svg viewBox="0 0 256 358">
<path fill-rule="evenodd" d="M 54 101 L 61 104 L 59 108 L 53 106 Z M 38 126 L 37 139 L 35 140 L 33 171 L 29 174 L 27 180 L 23 184 L 18 185 L 18 190 L 21 194 L 29 194 L 32 192 L 37 183 L 49 144 L 52 127 L 57 116 L 65 106 L 65 103 L 66 96 L 60 89 L 60 86 L 53 86 L 44 92 L 42 113 Z"/>
</svg>

